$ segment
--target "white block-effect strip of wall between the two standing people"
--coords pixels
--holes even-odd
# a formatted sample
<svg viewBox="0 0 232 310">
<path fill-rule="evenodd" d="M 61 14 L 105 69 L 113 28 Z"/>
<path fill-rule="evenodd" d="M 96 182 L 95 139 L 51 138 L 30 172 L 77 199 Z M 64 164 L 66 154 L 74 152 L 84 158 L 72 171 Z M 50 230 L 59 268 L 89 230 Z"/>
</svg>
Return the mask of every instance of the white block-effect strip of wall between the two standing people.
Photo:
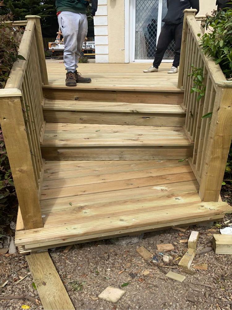
<svg viewBox="0 0 232 310">
<path fill-rule="evenodd" d="M 95 59 L 97 63 L 109 62 L 108 10 L 107 0 L 98 0 L 94 16 Z"/>
</svg>

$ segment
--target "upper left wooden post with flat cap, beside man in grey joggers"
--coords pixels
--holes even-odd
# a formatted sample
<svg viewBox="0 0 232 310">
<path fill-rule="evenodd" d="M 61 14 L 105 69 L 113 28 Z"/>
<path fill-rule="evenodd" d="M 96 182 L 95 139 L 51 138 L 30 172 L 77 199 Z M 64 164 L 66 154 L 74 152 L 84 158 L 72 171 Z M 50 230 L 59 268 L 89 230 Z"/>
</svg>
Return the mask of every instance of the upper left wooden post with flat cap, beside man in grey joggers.
<svg viewBox="0 0 232 310">
<path fill-rule="evenodd" d="M 39 55 L 39 63 L 40 63 L 40 72 L 43 85 L 48 85 L 48 73 L 45 61 L 45 54 L 44 54 L 44 45 L 43 45 L 43 37 L 41 32 L 41 25 L 40 25 L 40 16 L 37 15 L 27 15 L 25 16 L 27 20 L 34 20 L 35 22 L 35 35 L 36 35 L 36 44 L 37 50 Z"/>
</svg>

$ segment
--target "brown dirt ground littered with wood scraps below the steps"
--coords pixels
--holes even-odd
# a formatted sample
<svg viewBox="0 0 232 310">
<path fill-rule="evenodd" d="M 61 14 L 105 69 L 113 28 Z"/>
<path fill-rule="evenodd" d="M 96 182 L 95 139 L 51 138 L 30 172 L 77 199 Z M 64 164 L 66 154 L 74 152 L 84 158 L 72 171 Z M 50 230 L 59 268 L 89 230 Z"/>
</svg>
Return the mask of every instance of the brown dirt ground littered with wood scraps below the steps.
<svg viewBox="0 0 232 310">
<path fill-rule="evenodd" d="M 232 216 L 226 216 L 224 221 L 228 219 L 232 220 Z M 116 244 L 102 240 L 74 245 L 67 253 L 65 247 L 49 253 L 75 309 L 232 309 L 232 256 L 214 254 L 212 234 L 218 232 L 215 224 L 213 228 L 191 226 L 185 232 L 168 229 L 146 233 L 135 244 L 123 245 L 130 242 L 130 237 L 124 237 Z M 187 250 L 187 243 L 179 241 L 187 239 L 192 230 L 200 232 L 197 252 L 208 250 L 197 254 L 193 265 L 207 263 L 208 270 L 191 267 L 189 274 L 178 267 Z M 157 252 L 160 243 L 172 243 L 175 248 L 165 252 L 173 258 L 166 267 L 161 267 L 163 254 Z M 156 254 L 159 263 L 145 262 L 136 252 L 138 246 Z M 180 283 L 166 278 L 170 270 L 186 279 Z M 9 281 L 0 288 L 1 309 L 21 309 L 22 305 L 43 309 L 24 255 L 0 255 L 0 275 L 0 283 Z M 124 283 L 128 285 L 122 287 Z M 107 286 L 126 293 L 117 303 L 98 299 Z M 32 300 L 4 299 L 15 295 L 29 295 Z"/>
</svg>

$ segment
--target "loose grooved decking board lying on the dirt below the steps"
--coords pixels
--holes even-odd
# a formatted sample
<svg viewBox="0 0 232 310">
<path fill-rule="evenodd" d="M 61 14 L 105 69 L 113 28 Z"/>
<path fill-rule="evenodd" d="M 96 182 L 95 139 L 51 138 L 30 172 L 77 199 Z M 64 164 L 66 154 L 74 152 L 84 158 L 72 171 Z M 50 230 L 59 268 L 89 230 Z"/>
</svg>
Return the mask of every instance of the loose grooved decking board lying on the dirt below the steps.
<svg viewBox="0 0 232 310">
<path fill-rule="evenodd" d="M 26 256 L 44 309 L 75 309 L 47 251 Z"/>
</svg>

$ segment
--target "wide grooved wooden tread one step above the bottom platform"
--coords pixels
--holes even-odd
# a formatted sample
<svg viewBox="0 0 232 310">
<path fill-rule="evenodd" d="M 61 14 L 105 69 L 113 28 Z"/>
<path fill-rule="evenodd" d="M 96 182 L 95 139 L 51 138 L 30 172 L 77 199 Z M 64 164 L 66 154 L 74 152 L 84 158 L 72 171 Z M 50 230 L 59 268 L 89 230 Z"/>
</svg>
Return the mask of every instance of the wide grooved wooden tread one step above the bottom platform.
<svg viewBox="0 0 232 310">
<path fill-rule="evenodd" d="M 47 123 L 42 147 L 192 147 L 181 127 Z"/>
</svg>

